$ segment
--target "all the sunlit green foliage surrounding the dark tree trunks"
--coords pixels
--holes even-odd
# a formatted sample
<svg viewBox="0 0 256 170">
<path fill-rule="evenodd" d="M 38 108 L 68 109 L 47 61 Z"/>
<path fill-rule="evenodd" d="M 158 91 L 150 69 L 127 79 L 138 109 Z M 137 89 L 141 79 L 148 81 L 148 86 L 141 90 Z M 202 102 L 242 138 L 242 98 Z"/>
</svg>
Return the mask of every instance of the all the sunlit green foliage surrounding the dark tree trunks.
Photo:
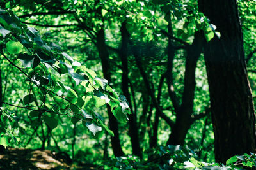
<svg viewBox="0 0 256 170">
<path fill-rule="evenodd" d="M 238 4 L 249 80 L 256 96 L 256 4 Z M 178 105 L 184 103 L 186 61 L 195 32 L 202 31 L 207 41 L 221 37 L 211 20 L 198 11 L 197 1 L 3 0 L 0 5 L 4 9 L 0 10 L 1 145 L 67 152 L 77 164 L 93 162 L 104 169 L 239 169 L 255 165 L 254 154 L 236 155 L 225 165 L 206 163 L 214 162 L 214 126 L 202 53 L 195 66 L 195 97 L 184 146 L 166 146 L 179 115 L 170 89 Z M 124 23 L 129 32 L 126 97 L 130 102 L 120 95 L 124 93 L 125 71 L 120 59 Z M 101 29 L 106 34 L 110 82 L 103 78 L 106 73 L 97 48 Z M 170 50 L 172 88 L 166 76 Z M 154 97 L 169 122 L 157 117 Z M 122 157 L 115 158 L 111 149 L 114 134 L 107 105 L 118 120 Z M 126 124 L 131 112 L 143 157 L 132 155 L 132 126 Z M 150 146 L 153 138 L 156 147 Z"/>
</svg>

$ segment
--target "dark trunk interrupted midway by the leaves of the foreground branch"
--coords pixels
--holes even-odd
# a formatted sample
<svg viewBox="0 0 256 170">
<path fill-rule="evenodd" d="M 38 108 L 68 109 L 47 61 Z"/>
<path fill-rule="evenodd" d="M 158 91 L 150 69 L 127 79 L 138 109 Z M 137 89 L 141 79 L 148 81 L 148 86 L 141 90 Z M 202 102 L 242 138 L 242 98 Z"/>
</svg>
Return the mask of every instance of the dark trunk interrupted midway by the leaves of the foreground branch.
<svg viewBox="0 0 256 170">
<path fill-rule="evenodd" d="M 104 29 L 100 29 L 100 31 L 97 32 L 97 48 L 99 51 L 99 57 L 101 59 L 104 78 L 106 78 L 108 81 L 111 81 L 109 54 L 108 54 L 108 49 L 105 43 Z M 122 147 L 120 145 L 120 139 L 118 134 L 118 122 L 114 117 L 113 113 L 111 113 L 111 108 L 109 106 L 107 107 L 108 107 L 108 116 L 109 116 L 109 128 L 115 134 L 115 136 L 111 138 L 112 149 L 113 149 L 114 155 L 116 157 L 120 157 L 124 155 L 124 152 L 122 151 Z"/>
</svg>

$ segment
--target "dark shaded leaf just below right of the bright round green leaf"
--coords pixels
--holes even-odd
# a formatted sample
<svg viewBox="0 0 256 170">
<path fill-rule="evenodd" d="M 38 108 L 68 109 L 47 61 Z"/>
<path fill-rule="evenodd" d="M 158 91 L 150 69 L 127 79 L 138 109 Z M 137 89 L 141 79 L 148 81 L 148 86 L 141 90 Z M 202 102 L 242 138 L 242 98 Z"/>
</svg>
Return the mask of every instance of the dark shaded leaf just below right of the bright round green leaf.
<svg viewBox="0 0 256 170">
<path fill-rule="evenodd" d="M 24 67 L 35 68 L 40 64 L 40 59 L 36 55 L 28 55 L 27 53 L 22 53 L 18 55 Z"/>
</svg>

